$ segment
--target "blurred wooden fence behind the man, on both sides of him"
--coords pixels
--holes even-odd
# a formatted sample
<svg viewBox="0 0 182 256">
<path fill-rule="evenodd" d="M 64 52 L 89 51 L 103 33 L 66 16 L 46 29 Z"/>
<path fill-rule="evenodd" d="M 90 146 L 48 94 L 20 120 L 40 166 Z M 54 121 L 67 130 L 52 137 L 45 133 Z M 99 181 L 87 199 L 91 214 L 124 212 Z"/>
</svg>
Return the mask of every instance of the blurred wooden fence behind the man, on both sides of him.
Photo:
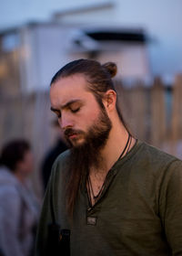
<svg viewBox="0 0 182 256">
<path fill-rule="evenodd" d="M 182 75 L 177 75 L 170 90 L 157 78 L 149 87 L 137 81 L 128 88 L 117 80 L 116 91 L 119 108 L 132 133 L 182 159 Z M 48 92 L 1 96 L 0 147 L 17 137 L 30 141 L 35 153 L 33 180 L 38 196 L 42 193 L 40 163 L 55 140 L 50 125 L 53 119 Z"/>
</svg>

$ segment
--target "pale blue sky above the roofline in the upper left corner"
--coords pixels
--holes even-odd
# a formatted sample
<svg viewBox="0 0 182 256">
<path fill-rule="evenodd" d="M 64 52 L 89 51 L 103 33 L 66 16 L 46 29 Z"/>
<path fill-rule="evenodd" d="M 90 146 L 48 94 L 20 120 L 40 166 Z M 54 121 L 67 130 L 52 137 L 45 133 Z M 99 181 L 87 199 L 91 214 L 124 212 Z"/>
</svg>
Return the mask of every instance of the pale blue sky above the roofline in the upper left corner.
<svg viewBox="0 0 182 256">
<path fill-rule="evenodd" d="M 103 0 L 0 0 L 0 30 L 29 21 L 46 21 L 58 10 L 79 5 L 103 3 Z"/>
</svg>

